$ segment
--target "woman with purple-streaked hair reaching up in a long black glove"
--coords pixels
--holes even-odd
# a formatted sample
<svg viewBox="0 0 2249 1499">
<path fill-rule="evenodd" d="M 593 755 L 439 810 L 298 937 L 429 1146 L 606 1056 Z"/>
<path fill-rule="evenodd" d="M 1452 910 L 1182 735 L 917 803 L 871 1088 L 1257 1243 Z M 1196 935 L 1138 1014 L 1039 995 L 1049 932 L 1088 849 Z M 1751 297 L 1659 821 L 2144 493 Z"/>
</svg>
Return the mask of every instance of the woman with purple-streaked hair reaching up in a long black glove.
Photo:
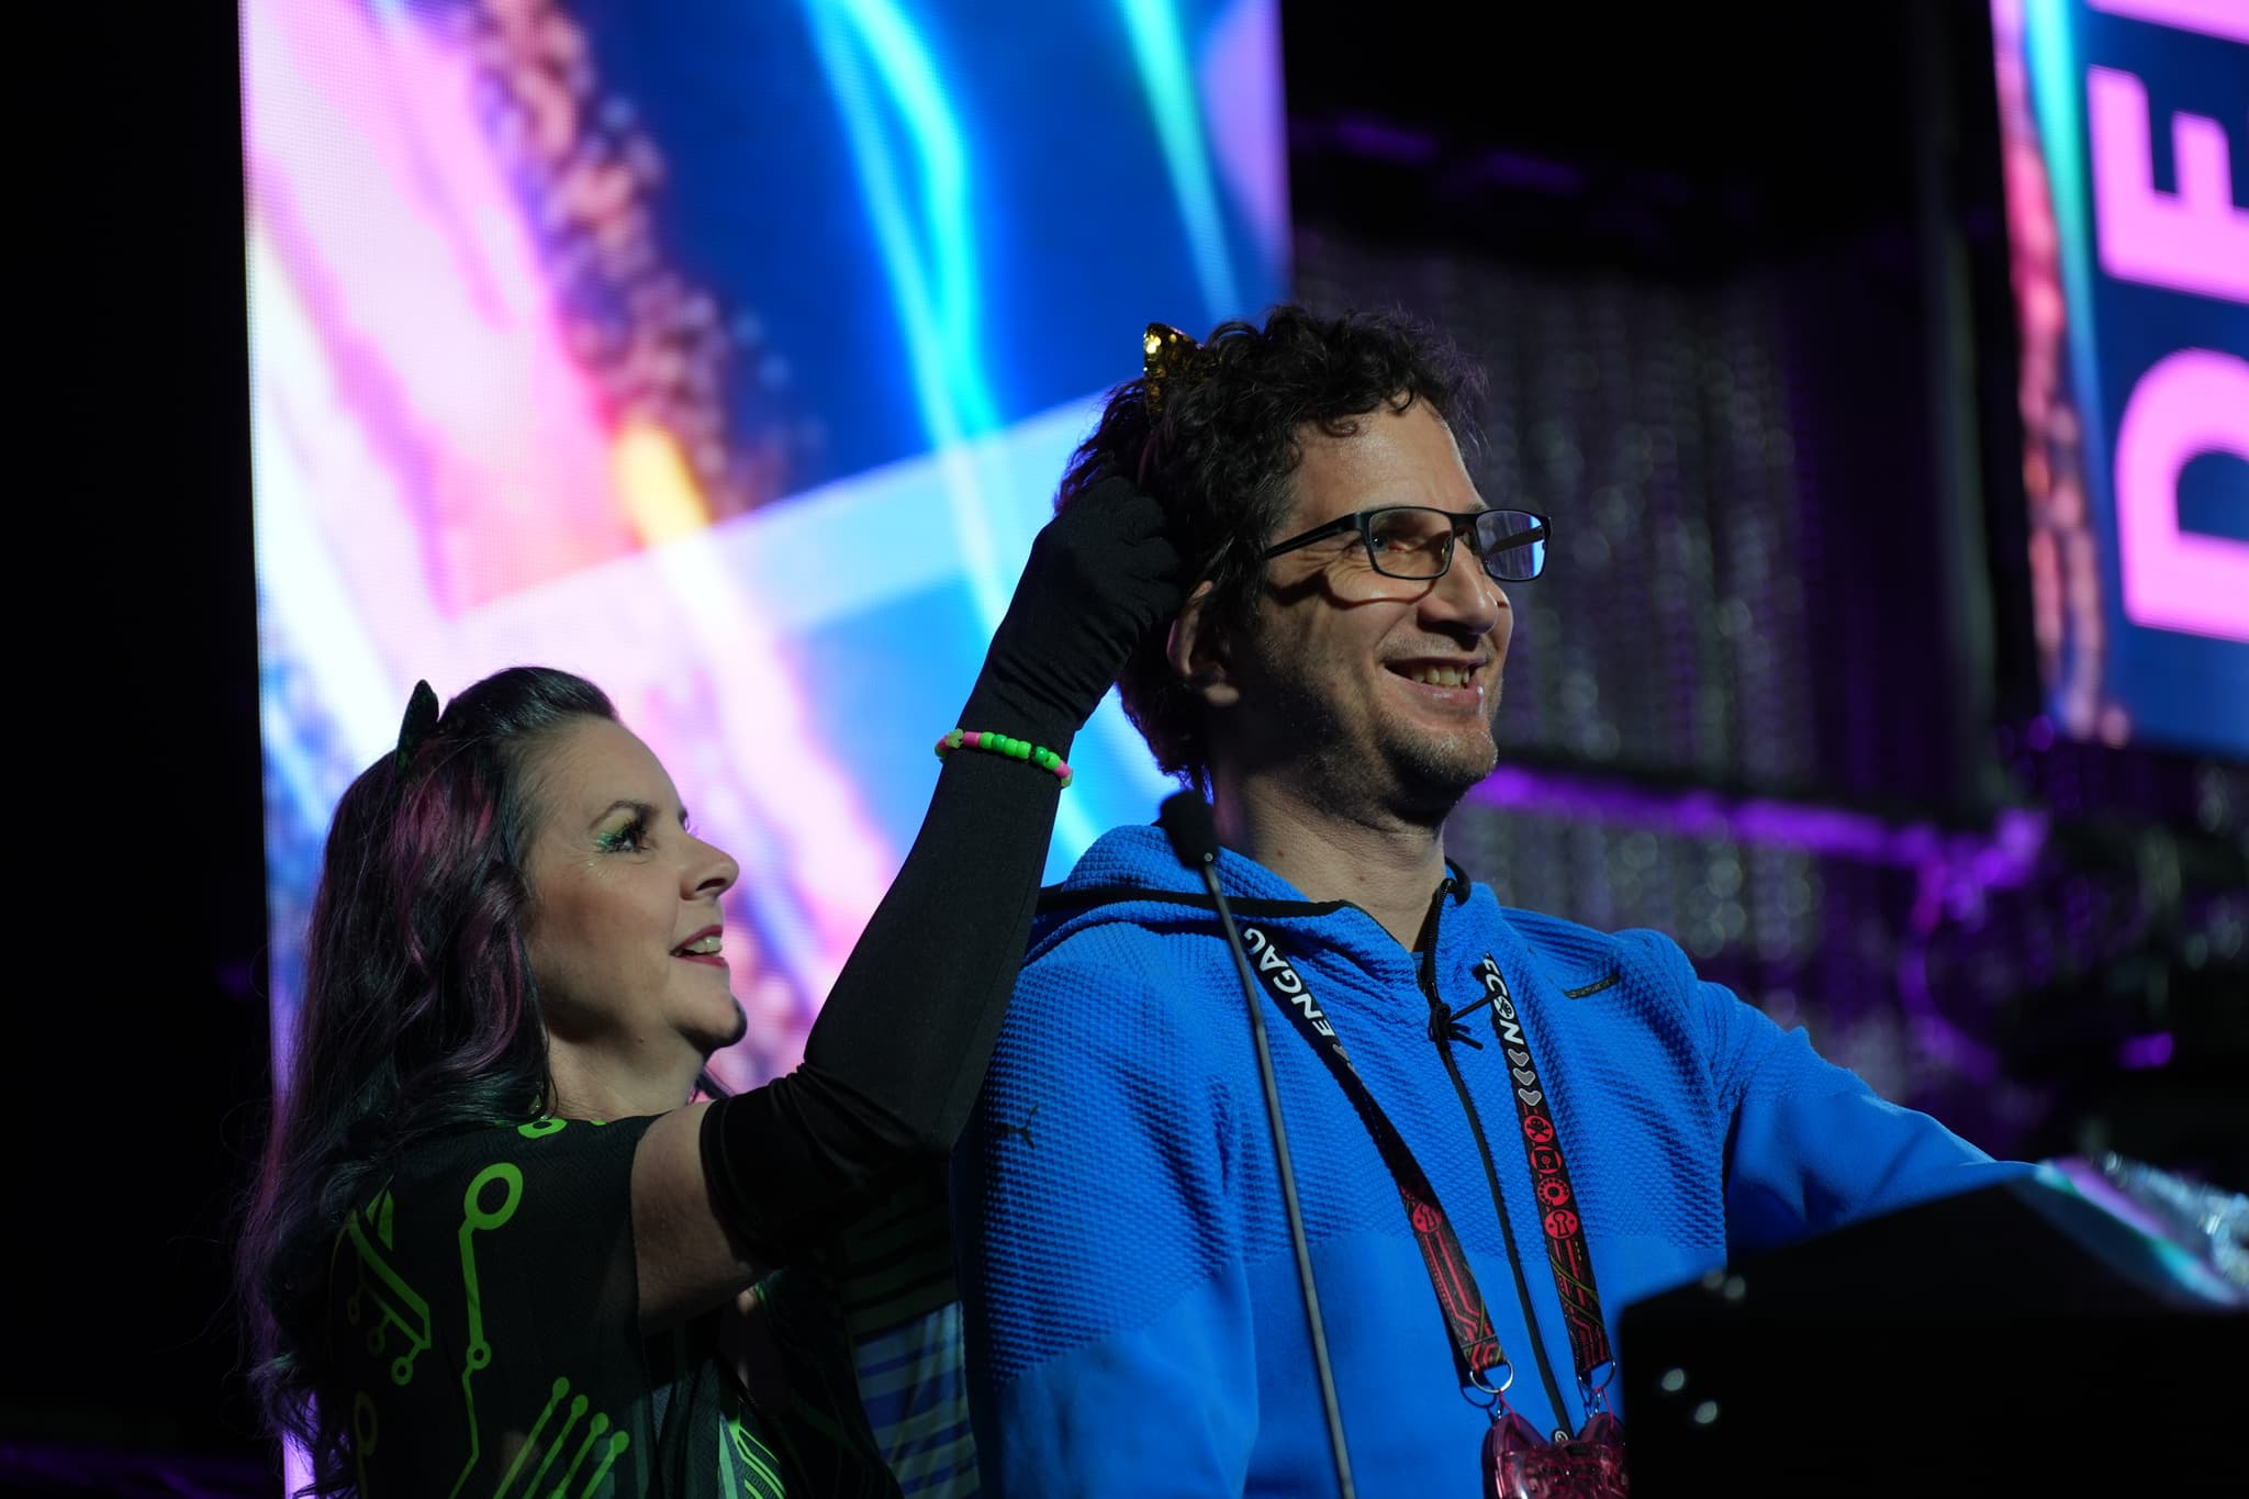
<svg viewBox="0 0 2249 1499">
<path fill-rule="evenodd" d="M 328 832 L 238 1254 L 315 1490 L 895 1492 L 832 1326 L 751 1288 L 967 1119 L 1062 755 L 1178 607 L 1160 526 L 1111 481 L 1039 535 L 803 1065 L 715 1103 L 688 1097 L 744 1025 L 733 858 L 591 683 L 513 667 L 443 712 L 416 688 Z"/>
</svg>

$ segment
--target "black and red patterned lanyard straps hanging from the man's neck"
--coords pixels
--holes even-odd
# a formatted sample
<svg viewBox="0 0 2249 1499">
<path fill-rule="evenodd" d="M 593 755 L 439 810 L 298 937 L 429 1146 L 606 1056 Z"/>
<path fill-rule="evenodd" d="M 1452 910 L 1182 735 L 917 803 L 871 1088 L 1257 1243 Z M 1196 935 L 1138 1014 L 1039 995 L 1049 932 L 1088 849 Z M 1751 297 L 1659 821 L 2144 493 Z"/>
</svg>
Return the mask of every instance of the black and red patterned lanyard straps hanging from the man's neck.
<svg viewBox="0 0 2249 1499">
<path fill-rule="evenodd" d="M 1484 1308 L 1484 1294 L 1469 1270 L 1469 1254 L 1453 1232 L 1453 1220 L 1437 1202 L 1437 1189 L 1430 1187 L 1421 1164 L 1406 1146 L 1406 1137 L 1390 1124 L 1390 1117 L 1367 1090 L 1365 1079 L 1358 1076 L 1358 1068 L 1352 1065 L 1343 1041 L 1336 1038 L 1336 1027 L 1311 998 L 1304 978 L 1259 928 L 1244 926 L 1241 946 L 1250 951 L 1257 982 L 1264 984 L 1266 996 L 1327 1065 L 1329 1076 L 1343 1088 L 1343 1097 L 1358 1110 L 1367 1135 L 1374 1137 L 1374 1148 L 1381 1151 L 1383 1164 L 1390 1169 L 1390 1180 L 1406 1205 L 1406 1220 L 1412 1225 L 1415 1243 L 1421 1247 L 1421 1263 L 1428 1268 L 1428 1283 L 1437 1292 L 1437 1306 L 1444 1312 L 1444 1328 L 1453 1346 L 1453 1369 L 1462 1387 L 1482 1389 L 1491 1396 L 1502 1393 L 1514 1380 L 1514 1371 L 1507 1353 L 1500 1348 L 1498 1333 L 1491 1328 L 1491 1312 Z M 1523 1148 L 1532 1162 L 1547 1263 L 1554 1270 L 1554 1288 L 1561 1292 L 1563 1317 L 1570 1326 L 1570 1355 L 1577 1364 L 1579 1393 L 1588 1407 L 1599 1407 L 1608 1375 L 1599 1384 L 1592 1375 L 1604 1364 L 1613 1375 L 1615 1357 L 1608 1351 L 1601 1294 L 1592 1283 L 1592 1254 L 1586 1250 L 1586 1225 L 1577 1214 L 1577 1193 L 1570 1187 L 1561 1135 L 1554 1130 L 1554 1115 L 1547 1106 L 1545 1088 L 1538 1083 L 1538 1063 L 1523 1038 L 1523 1016 L 1507 991 L 1500 964 L 1487 955 L 1478 964 L 1475 975 L 1484 984 L 1484 1000 L 1469 1009 L 1482 1009 L 1489 1002 L 1493 1007 L 1493 1025 L 1507 1047 L 1516 1117 L 1523 1121 Z M 1505 1378 L 1493 1382 L 1493 1371 L 1502 1369 L 1507 1371 Z"/>
</svg>

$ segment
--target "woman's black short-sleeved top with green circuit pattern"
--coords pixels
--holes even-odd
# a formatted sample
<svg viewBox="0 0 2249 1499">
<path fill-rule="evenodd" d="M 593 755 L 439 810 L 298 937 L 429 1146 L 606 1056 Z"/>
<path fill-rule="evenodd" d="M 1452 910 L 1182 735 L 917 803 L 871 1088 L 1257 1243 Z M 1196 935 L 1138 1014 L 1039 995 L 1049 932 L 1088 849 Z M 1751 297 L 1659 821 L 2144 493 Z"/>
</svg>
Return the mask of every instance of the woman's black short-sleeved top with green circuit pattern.
<svg viewBox="0 0 2249 1499">
<path fill-rule="evenodd" d="M 897 1495 L 832 1290 L 760 1283 L 760 1407 L 722 1312 L 641 1337 L 632 1151 L 652 1119 L 542 1119 L 416 1148 L 337 1234 L 328 1330 L 364 1499 Z"/>
</svg>

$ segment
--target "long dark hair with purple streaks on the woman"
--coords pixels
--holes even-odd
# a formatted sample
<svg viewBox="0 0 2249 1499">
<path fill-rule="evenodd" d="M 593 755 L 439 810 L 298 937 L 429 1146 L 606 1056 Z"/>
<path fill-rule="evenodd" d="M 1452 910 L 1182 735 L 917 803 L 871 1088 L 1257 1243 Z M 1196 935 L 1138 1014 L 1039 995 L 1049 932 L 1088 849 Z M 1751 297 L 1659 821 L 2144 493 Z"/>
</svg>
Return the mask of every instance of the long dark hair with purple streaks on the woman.
<svg viewBox="0 0 2249 1499">
<path fill-rule="evenodd" d="M 524 854 L 533 755 L 580 719 L 616 719 L 582 676 L 495 672 L 452 699 L 409 764 L 382 755 L 335 807 L 288 1088 L 236 1245 L 250 1384 L 268 1423 L 304 1445 L 313 1492 L 351 1488 L 351 1400 L 324 1398 L 342 1220 L 416 1142 L 522 1124 L 553 1097 Z"/>
</svg>

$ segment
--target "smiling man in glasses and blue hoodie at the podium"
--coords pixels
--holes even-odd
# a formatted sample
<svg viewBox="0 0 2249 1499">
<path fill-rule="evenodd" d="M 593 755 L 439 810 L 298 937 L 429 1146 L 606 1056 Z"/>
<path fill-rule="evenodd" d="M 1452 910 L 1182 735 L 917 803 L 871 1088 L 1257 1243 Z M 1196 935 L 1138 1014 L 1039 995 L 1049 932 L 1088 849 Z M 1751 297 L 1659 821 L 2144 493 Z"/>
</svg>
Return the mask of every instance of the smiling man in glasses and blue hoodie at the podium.
<svg viewBox="0 0 2249 1499">
<path fill-rule="evenodd" d="M 1628 1301 L 2024 1171 L 1667 937 L 1502 910 L 1446 861 L 1547 537 L 1478 494 L 1466 389 L 1385 317 L 1151 328 L 1062 485 L 1133 476 L 1194 582 L 1120 688 L 1212 802 L 1358 1492 L 1412 1499 L 1482 1492 L 1509 1411 L 1532 1441 L 1613 1411 Z M 1048 894 L 954 1211 L 987 1488 L 1334 1488 L 1235 960 L 1158 829 Z"/>
</svg>

